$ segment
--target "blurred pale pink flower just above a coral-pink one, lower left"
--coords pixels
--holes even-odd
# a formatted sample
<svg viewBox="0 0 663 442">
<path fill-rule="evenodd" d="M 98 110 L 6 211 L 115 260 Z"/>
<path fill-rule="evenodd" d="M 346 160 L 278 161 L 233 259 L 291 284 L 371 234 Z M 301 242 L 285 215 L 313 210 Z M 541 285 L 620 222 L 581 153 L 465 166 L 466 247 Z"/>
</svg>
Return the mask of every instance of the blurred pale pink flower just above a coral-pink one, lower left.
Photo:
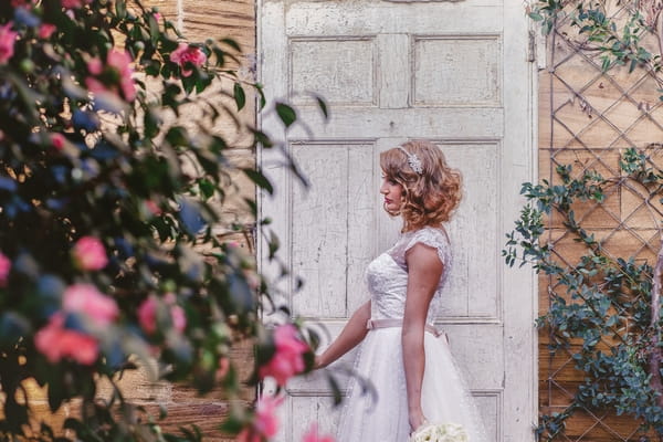
<svg viewBox="0 0 663 442">
<path fill-rule="evenodd" d="M 98 325 L 110 324 L 119 314 L 115 299 L 102 294 L 92 284 L 74 284 L 66 287 L 62 307 L 70 313 L 81 313 Z"/>
</svg>

